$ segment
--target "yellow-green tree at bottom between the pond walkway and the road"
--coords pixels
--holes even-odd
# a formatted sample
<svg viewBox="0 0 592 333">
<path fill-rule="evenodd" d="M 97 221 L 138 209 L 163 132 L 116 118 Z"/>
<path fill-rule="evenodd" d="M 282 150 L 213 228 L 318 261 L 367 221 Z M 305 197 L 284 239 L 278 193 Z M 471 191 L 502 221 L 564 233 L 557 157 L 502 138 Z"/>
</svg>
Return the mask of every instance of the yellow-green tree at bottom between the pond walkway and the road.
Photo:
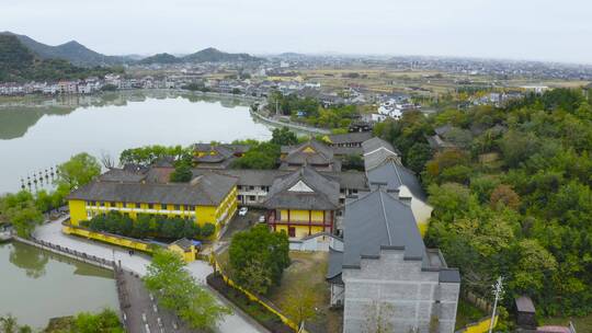
<svg viewBox="0 0 592 333">
<path fill-rule="evenodd" d="M 161 307 L 172 310 L 192 329 L 217 326 L 230 309 L 197 285 L 184 268 L 185 263 L 174 252 L 158 250 L 144 277 L 146 288 L 153 292 Z"/>
</svg>

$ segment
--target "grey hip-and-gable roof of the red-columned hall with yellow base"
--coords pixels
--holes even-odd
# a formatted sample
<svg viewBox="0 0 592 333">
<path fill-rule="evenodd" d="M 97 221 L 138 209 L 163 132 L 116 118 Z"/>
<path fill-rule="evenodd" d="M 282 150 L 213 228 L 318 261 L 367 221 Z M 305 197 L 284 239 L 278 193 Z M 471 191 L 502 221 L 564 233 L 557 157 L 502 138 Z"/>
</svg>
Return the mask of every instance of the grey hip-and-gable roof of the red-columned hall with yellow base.
<svg viewBox="0 0 592 333">
<path fill-rule="evenodd" d="M 314 192 L 291 192 L 292 186 L 304 182 Z M 267 208 L 322 209 L 339 207 L 339 183 L 322 176 L 312 168 L 304 166 L 283 177 L 277 177 L 270 188 L 264 206 Z"/>
</svg>

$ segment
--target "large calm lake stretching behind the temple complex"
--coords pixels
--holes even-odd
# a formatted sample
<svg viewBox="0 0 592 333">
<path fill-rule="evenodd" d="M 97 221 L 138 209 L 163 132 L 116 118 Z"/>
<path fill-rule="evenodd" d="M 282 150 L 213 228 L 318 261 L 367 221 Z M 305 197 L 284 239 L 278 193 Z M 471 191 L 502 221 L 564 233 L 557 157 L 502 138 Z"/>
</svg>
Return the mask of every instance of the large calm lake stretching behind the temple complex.
<svg viewBox="0 0 592 333">
<path fill-rule="evenodd" d="M 249 103 L 178 92 L 125 92 L 100 96 L 0 100 L 0 193 L 21 177 L 78 152 L 117 158 L 126 148 L 235 139 L 267 139 Z"/>
</svg>

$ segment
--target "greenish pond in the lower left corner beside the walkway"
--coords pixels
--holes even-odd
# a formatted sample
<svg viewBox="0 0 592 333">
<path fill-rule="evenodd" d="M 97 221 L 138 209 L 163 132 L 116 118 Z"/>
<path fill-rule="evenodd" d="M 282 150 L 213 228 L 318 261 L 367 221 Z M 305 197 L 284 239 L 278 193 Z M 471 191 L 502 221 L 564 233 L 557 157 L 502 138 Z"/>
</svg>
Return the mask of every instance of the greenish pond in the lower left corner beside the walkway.
<svg viewBox="0 0 592 333">
<path fill-rule="evenodd" d="M 113 273 L 22 243 L 0 243 L 0 315 L 44 328 L 50 318 L 118 309 Z"/>
</svg>

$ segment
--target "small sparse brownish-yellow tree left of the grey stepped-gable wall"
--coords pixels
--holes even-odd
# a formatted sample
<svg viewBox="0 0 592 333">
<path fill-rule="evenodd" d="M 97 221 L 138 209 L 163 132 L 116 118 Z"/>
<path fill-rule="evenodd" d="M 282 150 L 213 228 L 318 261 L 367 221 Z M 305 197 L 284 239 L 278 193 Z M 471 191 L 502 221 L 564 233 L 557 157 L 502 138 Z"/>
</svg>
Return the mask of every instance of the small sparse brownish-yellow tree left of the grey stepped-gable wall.
<svg viewBox="0 0 592 333">
<path fill-rule="evenodd" d="M 291 297 L 282 305 L 284 313 L 298 324 L 315 319 L 317 315 L 315 305 L 319 301 L 319 295 L 316 294 L 315 289 L 298 280 L 287 291 Z"/>
</svg>

